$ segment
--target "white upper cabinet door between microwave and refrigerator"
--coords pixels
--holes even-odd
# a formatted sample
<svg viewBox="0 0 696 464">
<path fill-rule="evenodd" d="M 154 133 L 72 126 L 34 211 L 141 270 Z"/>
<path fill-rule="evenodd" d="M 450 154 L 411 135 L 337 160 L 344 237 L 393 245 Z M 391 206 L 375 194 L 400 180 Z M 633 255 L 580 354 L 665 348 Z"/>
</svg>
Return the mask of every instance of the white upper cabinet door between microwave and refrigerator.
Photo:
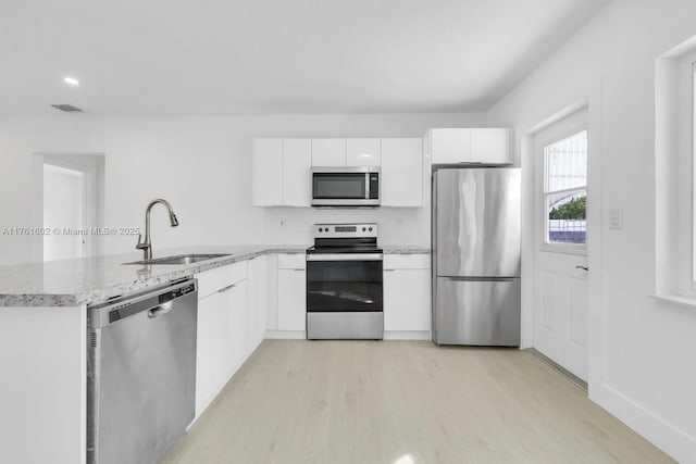
<svg viewBox="0 0 696 464">
<path fill-rule="evenodd" d="M 382 139 L 382 205 L 423 204 L 423 141 Z"/>
</svg>

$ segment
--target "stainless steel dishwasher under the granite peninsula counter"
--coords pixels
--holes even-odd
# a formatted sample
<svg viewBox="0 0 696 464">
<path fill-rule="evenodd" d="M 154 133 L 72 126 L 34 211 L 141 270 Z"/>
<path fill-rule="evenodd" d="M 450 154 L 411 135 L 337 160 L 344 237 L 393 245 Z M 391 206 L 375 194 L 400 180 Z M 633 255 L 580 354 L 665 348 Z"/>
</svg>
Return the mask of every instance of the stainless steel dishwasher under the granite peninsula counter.
<svg viewBox="0 0 696 464">
<path fill-rule="evenodd" d="M 87 312 L 87 463 L 157 463 L 194 419 L 196 280 Z"/>
</svg>

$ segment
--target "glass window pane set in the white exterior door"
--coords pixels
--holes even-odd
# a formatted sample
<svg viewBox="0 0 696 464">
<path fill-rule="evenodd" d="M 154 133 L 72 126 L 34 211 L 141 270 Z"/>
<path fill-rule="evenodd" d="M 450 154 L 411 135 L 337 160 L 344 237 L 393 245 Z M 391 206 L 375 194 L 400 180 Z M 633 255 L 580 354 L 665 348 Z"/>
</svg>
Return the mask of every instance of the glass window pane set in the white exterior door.
<svg viewBox="0 0 696 464">
<path fill-rule="evenodd" d="M 585 244 L 587 129 L 544 147 L 546 243 Z"/>
</svg>

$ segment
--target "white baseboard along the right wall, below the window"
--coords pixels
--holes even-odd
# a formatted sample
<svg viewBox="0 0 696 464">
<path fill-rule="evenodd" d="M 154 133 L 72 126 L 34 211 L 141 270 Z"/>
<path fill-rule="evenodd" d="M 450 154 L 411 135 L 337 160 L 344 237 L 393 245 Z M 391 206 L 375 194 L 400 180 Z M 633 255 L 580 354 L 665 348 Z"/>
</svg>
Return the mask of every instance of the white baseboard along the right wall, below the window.
<svg viewBox="0 0 696 464">
<path fill-rule="evenodd" d="M 674 427 L 614 388 L 589 385 L 589 399 L 683 464 L 696 464 L 696 438 Z"/>
</svg>

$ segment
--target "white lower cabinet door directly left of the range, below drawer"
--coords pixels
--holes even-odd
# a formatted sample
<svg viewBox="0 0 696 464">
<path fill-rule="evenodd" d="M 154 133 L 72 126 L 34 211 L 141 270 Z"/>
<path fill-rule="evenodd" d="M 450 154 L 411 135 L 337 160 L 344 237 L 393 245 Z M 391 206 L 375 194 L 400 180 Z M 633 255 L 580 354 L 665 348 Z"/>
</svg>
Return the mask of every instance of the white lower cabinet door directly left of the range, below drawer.
<svg viewBox="0 0 696 464">
<path fill-rule="evenodd" d="M 278 269 L 278 330 L 304 330 L 306 314 L 307 272 Z"/>
</svg>

